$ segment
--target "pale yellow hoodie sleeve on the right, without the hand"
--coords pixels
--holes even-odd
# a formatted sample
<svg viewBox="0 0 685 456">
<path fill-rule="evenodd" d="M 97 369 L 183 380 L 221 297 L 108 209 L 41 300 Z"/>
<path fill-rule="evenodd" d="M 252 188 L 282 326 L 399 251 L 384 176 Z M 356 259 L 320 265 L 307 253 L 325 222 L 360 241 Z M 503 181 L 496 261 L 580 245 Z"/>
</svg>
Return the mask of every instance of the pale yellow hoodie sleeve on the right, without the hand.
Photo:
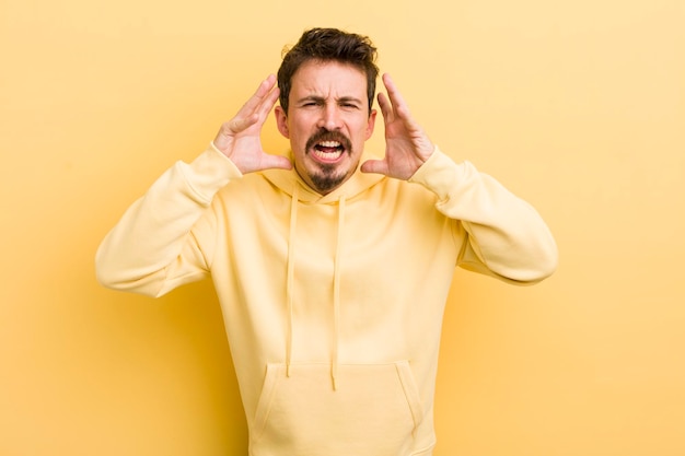
<svg viewBox="0 0 685 456">
<path fill-rule="evenodd" d="M 537 211 L 469 162 L 436 149 L 409 180 L 433 191 L 437 209 L 466 233 L 458 266 L 520 284 L 555 271 L 557 245 Z"/>
</svg>

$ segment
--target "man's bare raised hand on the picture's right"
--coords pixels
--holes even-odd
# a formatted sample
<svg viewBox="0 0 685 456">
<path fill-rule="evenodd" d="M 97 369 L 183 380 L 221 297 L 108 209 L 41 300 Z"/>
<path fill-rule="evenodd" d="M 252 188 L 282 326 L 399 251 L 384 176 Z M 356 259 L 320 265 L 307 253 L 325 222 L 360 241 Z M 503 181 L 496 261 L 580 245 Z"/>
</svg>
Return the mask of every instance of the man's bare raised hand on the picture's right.
<svg viewBox="0 0 685 456">
<path fill-rule="evenodd" d="M 368 160 L 361 165 L 361 171 L 407 180 L 432 155 L 434 145 L 411 118 L 407 104 L 388 74 L 383 74 L 383 84 L 387 97 L 379 93 L 379 105 L 385 121 L 385 157 Z"/>
</svg>

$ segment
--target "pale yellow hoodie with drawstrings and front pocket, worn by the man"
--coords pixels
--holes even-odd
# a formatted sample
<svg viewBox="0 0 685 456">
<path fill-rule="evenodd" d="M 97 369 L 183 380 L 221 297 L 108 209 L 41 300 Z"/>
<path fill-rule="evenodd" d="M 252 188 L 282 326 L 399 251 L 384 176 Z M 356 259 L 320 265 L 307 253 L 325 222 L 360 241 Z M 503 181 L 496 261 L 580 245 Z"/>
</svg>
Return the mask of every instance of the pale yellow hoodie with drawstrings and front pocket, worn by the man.
<svg viewBox="0 0 685 456">
<path fill-rule="evenodd" d="M 243 176 L 210 147 L 96 256 L 103 284 L 151 296 L 212 278 L 252 456 L 430 455 L 454 267 L 524 284 L 556 264 L 530 204 L 439 150 L 410 182 L 357 172 L 321 196 L 293 171 Z"/>
</svg>

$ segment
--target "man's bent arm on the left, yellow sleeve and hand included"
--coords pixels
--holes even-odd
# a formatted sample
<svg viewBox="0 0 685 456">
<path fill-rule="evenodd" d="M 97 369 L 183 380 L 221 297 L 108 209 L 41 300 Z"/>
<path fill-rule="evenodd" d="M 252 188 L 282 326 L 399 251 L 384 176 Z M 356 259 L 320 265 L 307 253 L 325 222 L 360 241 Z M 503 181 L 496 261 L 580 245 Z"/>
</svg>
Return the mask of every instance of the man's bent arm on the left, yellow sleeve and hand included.
<svg viewBox="0 0 685 456">
<path fill-rule="evenodd" d="M 263 81 L 205 153 L 176 163 L 126 211 L 97 249 L 102 284 L 159 296 L 207 276 L 211 241 L 198 237 L 213 239 L 202 233 L 213 231 L 207 211 L 214 195 L 245 173 L 291 167 L 288 159 L 267 154 L 259 139 L 278 98 L 275 83 L 274 75 Z"/>
</svg>

